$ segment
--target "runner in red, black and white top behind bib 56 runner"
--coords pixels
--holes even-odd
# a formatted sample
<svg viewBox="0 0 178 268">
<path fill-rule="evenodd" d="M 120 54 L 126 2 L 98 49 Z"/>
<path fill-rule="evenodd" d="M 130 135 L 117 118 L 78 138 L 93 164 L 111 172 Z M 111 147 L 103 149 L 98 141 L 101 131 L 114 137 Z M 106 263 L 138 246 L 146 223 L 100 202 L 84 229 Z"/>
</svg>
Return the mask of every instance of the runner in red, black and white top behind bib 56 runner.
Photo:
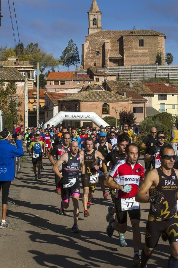
<svg viewBox="0 0 178 268">
<path fill-rule="evenodd" d="M 53 150 L 51 151 L 50 155 L 48 156 L 49 161 L 55 165 L 55 161 L 53 160 L 53 156 L 56 156 L 56 160 L 58 160 L 61 155 L 65 154 L 66 152 L 69 152 L 70 147 L 69 147 L 69 142 L 70 142 L 70 134 L 68 132 L 65 132 L 63 134 L 63 143 L 55 144 L 53 147 Z M 59 167 L 59 171 L 61 171 L 62 166 Z M 61 179 L 58 177 L 56 174 L 54 175 L 55 178 L 55 186 L 56 186 L 56 191 L 58 195 L 61 195 Z M 66 215 L 64 212 L 64 208 L 61 202 L 61 208 L 59 210 L 60 215 Z"/>
</svg>

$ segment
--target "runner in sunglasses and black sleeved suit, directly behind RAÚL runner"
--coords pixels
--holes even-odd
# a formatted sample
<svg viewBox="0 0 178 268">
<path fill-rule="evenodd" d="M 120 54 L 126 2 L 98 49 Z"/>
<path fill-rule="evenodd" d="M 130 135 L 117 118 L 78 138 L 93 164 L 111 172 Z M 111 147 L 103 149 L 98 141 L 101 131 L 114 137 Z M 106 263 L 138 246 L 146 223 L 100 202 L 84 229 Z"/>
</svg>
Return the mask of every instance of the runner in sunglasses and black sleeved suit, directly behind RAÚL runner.
<svg viewBox="0 0 178 268">
<path fill-rule="evenodd" d="M 152 147 L 148 148 L 147 155 L 144 158 L 145 162 L 152 161 L 153 169 L 160 167 L 161 165 L 160 158 L 159 158 L 160 149 L 168 145 L 167 143 L 164 142 L 166 138 L 164 131 L 158 131 L 156 138 L 157 138 L 157 143 L 153 145 Z"/>
</svg>

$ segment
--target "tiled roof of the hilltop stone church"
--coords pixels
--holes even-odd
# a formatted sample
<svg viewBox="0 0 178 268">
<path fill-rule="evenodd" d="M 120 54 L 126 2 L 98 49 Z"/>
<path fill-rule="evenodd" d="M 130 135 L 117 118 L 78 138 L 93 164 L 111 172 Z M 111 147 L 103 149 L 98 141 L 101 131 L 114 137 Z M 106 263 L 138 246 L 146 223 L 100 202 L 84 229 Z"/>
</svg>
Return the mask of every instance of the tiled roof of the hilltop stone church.
<svg viewBox="0 0 178 268">
<path fill-rule="evenodd" d="M 153 30 L 136 30 L 135 33 L 133 33 L 133 30 L 123 30 L 123 31 L 111 31 L 111 30 L 101 30 L 99 32 L 92 33 L 90 35 L 86 35 L 87 37 L 107 37 L 107 36 L 140 36 L 140 35 L 157 35 L 157 36 L 164 36 L 166 38 L 166 35 L 161 32 L 156 32 Z"/>
</svg>

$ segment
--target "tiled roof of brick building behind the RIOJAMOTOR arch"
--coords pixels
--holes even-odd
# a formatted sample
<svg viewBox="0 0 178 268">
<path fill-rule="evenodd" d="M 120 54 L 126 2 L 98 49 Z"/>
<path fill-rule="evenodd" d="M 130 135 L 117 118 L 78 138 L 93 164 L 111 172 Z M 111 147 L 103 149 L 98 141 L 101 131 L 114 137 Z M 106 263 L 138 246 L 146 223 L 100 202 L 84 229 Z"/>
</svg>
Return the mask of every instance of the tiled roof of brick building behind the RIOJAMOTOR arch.
<svg viewBox="0 0 178 268">
<path fill-rule="evenodd" d="M 80 101 L 128 101 L 132 98 L 123 97 L 109 91 L 82 91 L 72 96 L 66 97 L 63 100 L 80 100 Z"/>
</svg>

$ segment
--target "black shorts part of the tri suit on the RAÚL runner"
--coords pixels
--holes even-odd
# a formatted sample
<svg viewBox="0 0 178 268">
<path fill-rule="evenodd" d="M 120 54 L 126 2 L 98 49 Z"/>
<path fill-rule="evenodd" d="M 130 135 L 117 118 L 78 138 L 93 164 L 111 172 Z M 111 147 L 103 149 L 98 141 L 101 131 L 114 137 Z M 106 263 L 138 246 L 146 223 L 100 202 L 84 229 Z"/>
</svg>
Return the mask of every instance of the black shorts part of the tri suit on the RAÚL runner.
<svg viewBox="0 0 178 268">
<path fill-rule="evenodd" d="M 169 243 L 178 242 L 178 216 L 169 221 L 155 220 L 150 214 L 145 231 L 145 244 L 148 248 L 157 246 L 161 233 L 166 232 Z"/>
</svg>

